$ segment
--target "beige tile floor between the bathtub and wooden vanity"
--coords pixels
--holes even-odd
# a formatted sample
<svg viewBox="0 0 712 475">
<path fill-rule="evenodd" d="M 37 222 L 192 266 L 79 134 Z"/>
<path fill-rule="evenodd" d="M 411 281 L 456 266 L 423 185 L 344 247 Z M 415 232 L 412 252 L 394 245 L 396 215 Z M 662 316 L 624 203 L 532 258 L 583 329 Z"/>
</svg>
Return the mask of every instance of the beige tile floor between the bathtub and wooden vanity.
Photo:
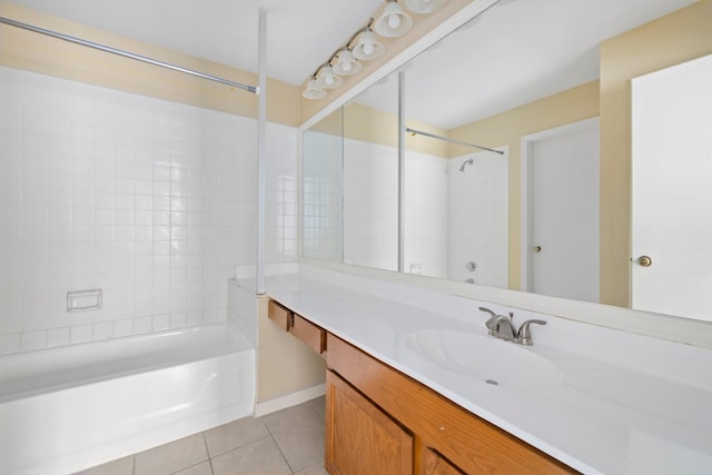
<svg viewBox="0 0 712 475">
<path fill-rule="evenodd" d="M 80 474 L 323 475 L 324 397 L 235 420 Z"/>
</svg>

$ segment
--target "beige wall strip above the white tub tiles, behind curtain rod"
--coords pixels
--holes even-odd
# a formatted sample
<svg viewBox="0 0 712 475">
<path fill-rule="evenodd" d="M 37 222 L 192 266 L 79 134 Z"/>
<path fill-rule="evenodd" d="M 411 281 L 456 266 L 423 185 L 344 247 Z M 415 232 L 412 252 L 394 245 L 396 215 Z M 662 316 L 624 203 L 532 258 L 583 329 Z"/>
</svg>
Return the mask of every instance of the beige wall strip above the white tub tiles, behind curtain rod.
<svg viewBox="0 0 712 475">
<path fill-rule="evenodd" d="M 0 2 L 0 14 L 235 82 L 257 85 L 256 75 L 72 23 L 13 3 Z M 257 96 L 254 93 L 7 24 L 0 24 L 0 65 L 257 118 Z M 268 80 L 267 90 L 267 120 L 298 127 L 300 88 Z"/>
</svg>

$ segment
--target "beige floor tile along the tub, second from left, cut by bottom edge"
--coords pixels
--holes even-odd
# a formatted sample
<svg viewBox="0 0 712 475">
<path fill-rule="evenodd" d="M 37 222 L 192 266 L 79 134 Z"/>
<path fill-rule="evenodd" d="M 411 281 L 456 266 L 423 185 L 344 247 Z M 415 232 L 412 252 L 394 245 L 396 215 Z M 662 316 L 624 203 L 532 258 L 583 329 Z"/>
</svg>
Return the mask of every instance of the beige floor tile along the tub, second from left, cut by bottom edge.
<svg viewBox="0 0 712 475">
<path fill-rule="evenodd" d="M 135 475 L 168 475 L 208 459 L 202 434 L 136 454 Z"/>
</svg>

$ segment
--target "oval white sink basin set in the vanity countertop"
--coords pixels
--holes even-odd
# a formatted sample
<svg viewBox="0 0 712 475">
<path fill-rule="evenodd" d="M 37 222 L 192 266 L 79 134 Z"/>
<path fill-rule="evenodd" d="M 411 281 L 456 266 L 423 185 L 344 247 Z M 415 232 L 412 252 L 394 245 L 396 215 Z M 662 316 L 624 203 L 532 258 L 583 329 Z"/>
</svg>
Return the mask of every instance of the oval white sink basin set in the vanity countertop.
<svg viewBox="0 0 712 475">
<path fill-rule="evenodd" d="M 557 366 L 530 348 L 468 331 L 424 329 L 406 335 L 405 346 L 443 369 L 507 389 L 562 383 Z"/>
</svg>

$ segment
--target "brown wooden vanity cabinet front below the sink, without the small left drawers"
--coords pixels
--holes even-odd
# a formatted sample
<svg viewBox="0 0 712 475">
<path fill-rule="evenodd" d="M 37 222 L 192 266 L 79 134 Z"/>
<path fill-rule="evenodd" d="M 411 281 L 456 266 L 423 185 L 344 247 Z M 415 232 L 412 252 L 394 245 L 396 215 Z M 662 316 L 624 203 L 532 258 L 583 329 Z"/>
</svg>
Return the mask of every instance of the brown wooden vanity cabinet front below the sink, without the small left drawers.
<svg viewBox="0 0 712 475">
<path fill-rule="evenodd" d="M 364 444 L 357 451 L 340 449 L 349 438 L 337 437 L 334 428 L 349 428 L 352 439 L 379 441 L 377 457 L 384 452 L 390 458 L 400 459 L 399 444 L 387 442 L 375 427 L 380 426 L 382 415 L 402 427 L 413 439 L 412 466 L 414 474 L 454 475 L 465 474 L 568 474 L 576 473 L 543 452 L 522 442 L 505 431 L 473 415 L 447 398 L 435 393 L 417 380 L 380 363 L 374 357 L 327 334 L 327 367 L 329 376 L 326 387 L 326 462 L 332 475 L 350 473 L 402 473 L 377 469 L 372 472 L 342 471 L 358 464 L 359 451 L 370 449 Z M 349 388 L 349 392 L 344 389 Z M 345 394 L 357 394 L 373 407 L 369 412 L 356 412 L 343 404 Z M 355 399 L 350 396 L 349 400 Z M 378 414 L 378 420 L 366 422 L 370 414 Z M 384 447 L 380 447 L 383 445 Z M 396 456 L 395 454 L 398 454 Z M 370 459 L 369 455 L 358 454 Z M 336 469 L 330 469 L 334 467 Z M 404 471 L 406 468 L 403 468 Z M 405 472 L 403 472 L 405 473 Z M 409 472 L 408 472 L 409 473 Z"/>
</svg>

